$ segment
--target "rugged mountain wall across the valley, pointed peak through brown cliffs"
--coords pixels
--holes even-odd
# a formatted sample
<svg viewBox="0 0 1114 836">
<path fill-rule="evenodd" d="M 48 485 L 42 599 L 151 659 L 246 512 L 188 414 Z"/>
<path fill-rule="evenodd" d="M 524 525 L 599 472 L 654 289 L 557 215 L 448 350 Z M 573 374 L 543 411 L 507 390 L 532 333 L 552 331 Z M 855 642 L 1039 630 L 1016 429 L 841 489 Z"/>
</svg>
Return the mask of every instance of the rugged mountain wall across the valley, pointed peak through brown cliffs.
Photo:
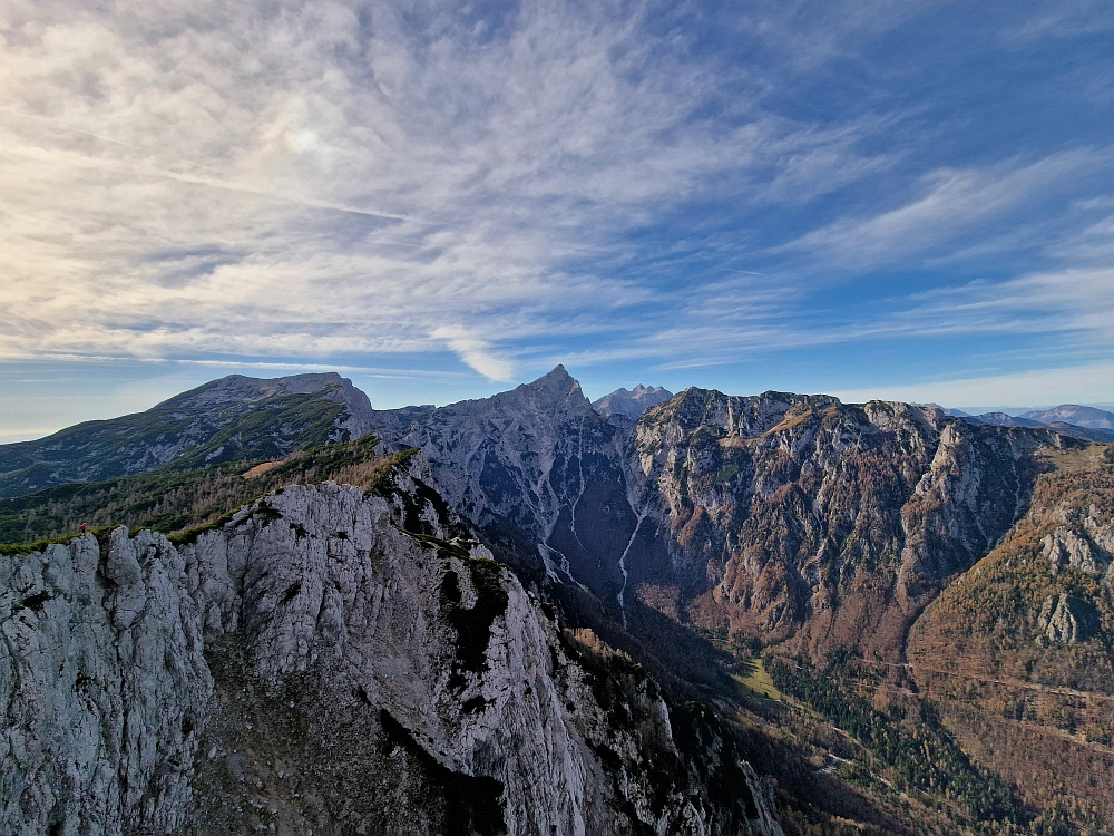
<svg viewBox="0 0 1114 836">
<path fill-rule="evenodd" d="M 636 635 L 665 621 L 879 658 L 900 657 L 922 606 L 1024 511 L 1032 454 L 1071 444 L 929 407 L 701 389 L 616 426 L 561 367 L 377 425 L 534 557 L 520 568 L 590 592 Z"/>
</svg>

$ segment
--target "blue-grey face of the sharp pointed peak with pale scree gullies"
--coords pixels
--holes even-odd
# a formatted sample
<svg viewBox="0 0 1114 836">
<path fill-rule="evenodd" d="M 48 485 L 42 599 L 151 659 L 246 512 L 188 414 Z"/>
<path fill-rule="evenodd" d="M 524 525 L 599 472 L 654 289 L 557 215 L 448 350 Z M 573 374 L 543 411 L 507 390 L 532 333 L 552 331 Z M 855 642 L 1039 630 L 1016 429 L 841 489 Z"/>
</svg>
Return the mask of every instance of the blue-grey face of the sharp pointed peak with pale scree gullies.
<svg viewBox="0 0 1114 836">
<path fill-rule="evenodd" d="M 564 542 L 575 539 L 578 514 L 585 519 L 626 499 L 618 430 L 563 367 L 491 398 L 382 411 L 375 420 L 389 447 L 422 449 L 449 505 L 506 545 L 505 556 L 527 576 L 595 589 L 614 573 L 614 562 L 577 564 Z"/>
</svg>

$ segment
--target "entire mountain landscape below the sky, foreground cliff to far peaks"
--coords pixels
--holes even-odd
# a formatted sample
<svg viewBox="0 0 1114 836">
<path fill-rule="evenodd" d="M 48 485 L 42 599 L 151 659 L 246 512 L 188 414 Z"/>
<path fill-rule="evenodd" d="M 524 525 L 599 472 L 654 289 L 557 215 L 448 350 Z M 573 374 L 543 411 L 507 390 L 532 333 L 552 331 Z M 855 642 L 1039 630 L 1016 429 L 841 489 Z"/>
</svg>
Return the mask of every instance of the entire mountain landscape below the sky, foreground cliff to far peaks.
<svg viewBox="0 0 1114 836">
<path fill-rule="evenodd" d="M 1057 410 L 234 377 L 0 447 L 6 825 L 1102 833 L 1114 448 Z"/>
</svg>

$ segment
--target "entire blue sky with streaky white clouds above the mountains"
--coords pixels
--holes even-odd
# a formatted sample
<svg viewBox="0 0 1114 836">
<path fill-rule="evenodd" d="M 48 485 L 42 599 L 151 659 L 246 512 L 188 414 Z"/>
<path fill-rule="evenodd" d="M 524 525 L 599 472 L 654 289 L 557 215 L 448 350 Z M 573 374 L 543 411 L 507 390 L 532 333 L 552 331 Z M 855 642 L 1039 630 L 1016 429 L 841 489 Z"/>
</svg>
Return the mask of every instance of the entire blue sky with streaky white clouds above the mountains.
<svg viewBox="0 0 1114 836">
<path fill-rule="evenodd" d="M 558 362 L 1114 404 L 1114 4 L 0 0 L 0 441 Z"/>
</svg>

